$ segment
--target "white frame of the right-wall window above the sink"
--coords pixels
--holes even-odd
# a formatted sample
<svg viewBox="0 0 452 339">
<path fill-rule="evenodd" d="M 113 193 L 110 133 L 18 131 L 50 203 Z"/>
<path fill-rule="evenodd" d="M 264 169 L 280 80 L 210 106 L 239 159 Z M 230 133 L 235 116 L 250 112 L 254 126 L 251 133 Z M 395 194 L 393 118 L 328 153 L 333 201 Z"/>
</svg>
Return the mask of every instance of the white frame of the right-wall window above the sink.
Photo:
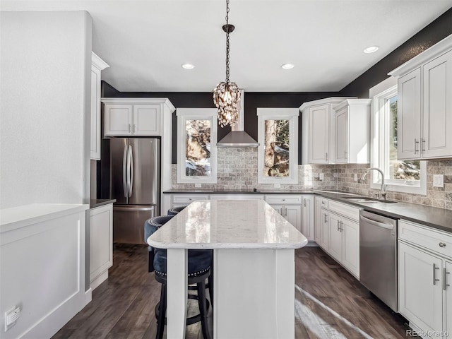
<svg viewBox="0 0 452 339">
<path fill-rule="evenodd" d="M 384 110 L 383 106 L 389 98 L 398 95 L 397 79 L 390 77 L 382 81 L 378 85 L 369 90 L 369 97 L 372 99 L 371 109 L 371 167 L 382 169 L 385 174 L 385 184 L 388 185 L 388 191 L 410 193 L 410 194 L 427 194 L 427 161 L 420 161 L 420 184 L 412 185 L 403 183 L 403 180 L 388 179 L 388 162 L 383 159 L 386 155 L 383 140 L 387 137 L 388 131 L 381 132 L 381 126 L 384 126 L 386 121 L 381 112 Z M 383 134 L 383 138 L 381 138 Z M 371 189 L 381 188 L 381 175 L 377 172 L 371 172 L 370 180 Z"/>
</svg>

